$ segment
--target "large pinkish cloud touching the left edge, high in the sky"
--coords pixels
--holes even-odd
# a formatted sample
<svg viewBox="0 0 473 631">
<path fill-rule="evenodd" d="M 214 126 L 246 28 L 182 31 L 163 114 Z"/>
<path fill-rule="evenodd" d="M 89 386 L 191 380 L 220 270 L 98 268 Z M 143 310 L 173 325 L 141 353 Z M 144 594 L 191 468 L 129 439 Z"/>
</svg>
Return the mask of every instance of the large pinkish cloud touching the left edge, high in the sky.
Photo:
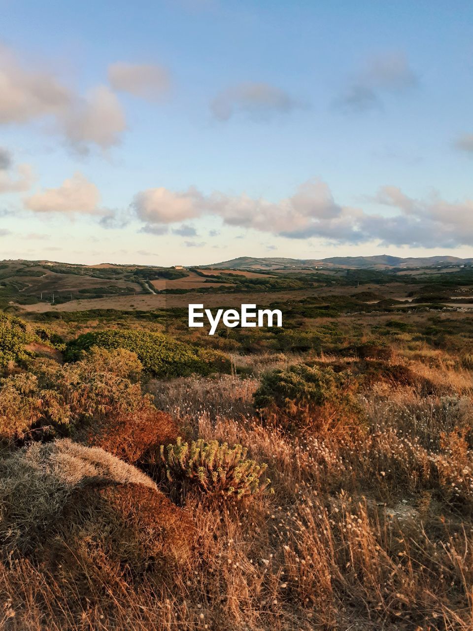
<svg viewBox="0 0 473 631">
<path fill-rule="evenodd" d="M 85 98 L 63 85 L 53 73 L 25 69 L 5 47 L 0 47 L 0 124 L 52 121 L 80 151 L 91 145 L 108 148 L 126 128 L 117 97 L 98 86 Z"/>
</svg>

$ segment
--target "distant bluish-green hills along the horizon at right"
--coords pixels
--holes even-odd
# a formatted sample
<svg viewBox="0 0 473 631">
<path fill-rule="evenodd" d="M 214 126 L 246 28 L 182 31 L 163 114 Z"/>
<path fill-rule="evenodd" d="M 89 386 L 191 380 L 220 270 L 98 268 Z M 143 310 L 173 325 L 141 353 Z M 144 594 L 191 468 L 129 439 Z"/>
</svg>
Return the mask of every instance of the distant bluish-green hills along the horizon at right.
<svg viewBox="0 0 473 631">
<path fill-rule="evenodd" d="M 281 269 L 281 268 L 346 268 L 346 269 L 393 269 L 430 268 L 445 265 L 464 265 L 473 262 L 473 257 L 460 259 L 457 256 L 407 257 L 378 254 L 376 256 L 332 256 L 327 259 L 286 259 L 281 257 L 256 258 L 239 256 L 230 261 L 221 261 L 202 268 L 226 269 Z"/>
</svg>

